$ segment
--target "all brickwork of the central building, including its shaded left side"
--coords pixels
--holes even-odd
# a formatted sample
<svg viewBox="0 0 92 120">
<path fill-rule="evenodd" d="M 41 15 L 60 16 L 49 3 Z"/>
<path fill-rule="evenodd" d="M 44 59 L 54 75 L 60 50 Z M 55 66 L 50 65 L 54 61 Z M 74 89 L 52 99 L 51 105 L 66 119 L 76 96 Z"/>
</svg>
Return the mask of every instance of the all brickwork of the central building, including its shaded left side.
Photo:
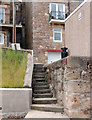
<svg viewBox="0 0 92 120">
<path fill-rule="evenodd" d="M 67 0 L 62 1 L 61 3 L 65 3 L 66 12 L 68 12 Z M 79 4 L 76 4 L 76 6 L 71 5 L 71 12 L 78 5 Z M 33 49 L 34 63 L 47 63 L 47 49 L 61 49 L 61 47 L 65 45 L 65 25 L 49 23 L 48 2 L 26 3 L 26 11 L 29 11 L 29 15 L 26 12 L 26 47 Z M 62 28 L 61 43 L 53 41 L 53 28 Z"/>
</svg>

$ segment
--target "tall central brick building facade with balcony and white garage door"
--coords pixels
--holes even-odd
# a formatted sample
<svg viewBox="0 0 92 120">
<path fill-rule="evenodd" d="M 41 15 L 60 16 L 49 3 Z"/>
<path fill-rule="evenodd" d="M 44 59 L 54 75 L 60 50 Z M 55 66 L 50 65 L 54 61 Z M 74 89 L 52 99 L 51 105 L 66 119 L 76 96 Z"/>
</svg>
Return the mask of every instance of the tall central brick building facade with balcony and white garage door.
<svg viewBox="0 0 92 120">
<path fill-rule="evenodd" d="M 26 3 L 26 28 L 30 26 L 26 32 L 26 43 L 29 49 L 33 49 L 34 63 L 51 63 L 61 59 L 61 48 L 66 47 L 65 18 L 80 3 L 67 0 Z"/>
</svg>

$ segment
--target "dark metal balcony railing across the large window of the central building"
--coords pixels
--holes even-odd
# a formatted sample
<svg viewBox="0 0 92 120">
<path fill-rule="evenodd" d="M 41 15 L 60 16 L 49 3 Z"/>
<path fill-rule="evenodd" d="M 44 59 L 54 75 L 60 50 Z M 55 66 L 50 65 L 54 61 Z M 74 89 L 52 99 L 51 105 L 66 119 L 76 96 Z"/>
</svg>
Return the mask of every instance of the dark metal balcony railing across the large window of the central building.
<svg viewBox="0 0 92 120">
<path fill-rule="evenodd" d="M 69 13 L 61 12 L 61 11 L 51 11 L 49 13 L 49 20 L 51 19 L 57 19 L 57 20 L 65 20 L 67 18 Z"/>
</svg>

